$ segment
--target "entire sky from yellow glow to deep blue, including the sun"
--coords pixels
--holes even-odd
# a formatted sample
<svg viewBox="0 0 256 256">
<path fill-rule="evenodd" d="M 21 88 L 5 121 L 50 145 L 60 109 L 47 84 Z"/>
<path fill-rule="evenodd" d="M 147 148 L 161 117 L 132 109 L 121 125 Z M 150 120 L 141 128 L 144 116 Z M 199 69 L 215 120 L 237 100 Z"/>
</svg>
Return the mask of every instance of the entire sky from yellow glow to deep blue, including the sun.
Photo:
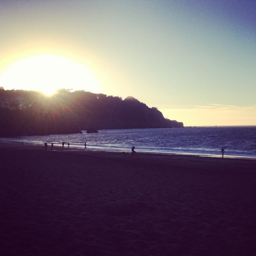
<svg viewBox="0 0 256 256">
<path fill-rule="evenodd" d="M 133 96 L 185 126 L 256 125 L 256 1 L 0 0 L 0 87 Z"/>
</svg>

